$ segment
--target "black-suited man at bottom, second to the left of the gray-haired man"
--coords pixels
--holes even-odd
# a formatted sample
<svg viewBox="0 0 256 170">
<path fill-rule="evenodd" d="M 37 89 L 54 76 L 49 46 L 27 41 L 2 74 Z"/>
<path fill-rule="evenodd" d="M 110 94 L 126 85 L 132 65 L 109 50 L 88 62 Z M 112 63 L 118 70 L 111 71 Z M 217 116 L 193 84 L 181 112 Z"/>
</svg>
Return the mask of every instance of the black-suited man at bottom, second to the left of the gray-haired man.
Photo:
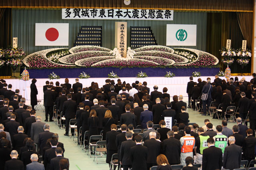
<svg viewBox="0 0 256 170">
<path fill-rule="evenodd" d="M 125 133 L 126 141 L 122 142 L 120 148 L 120 164 L 123 165 L 124 170 L 132 168 L 132 161 L 130 157 L 130 150 L 136 143 L 132 140 L 132 132 Z"/>
</svg>

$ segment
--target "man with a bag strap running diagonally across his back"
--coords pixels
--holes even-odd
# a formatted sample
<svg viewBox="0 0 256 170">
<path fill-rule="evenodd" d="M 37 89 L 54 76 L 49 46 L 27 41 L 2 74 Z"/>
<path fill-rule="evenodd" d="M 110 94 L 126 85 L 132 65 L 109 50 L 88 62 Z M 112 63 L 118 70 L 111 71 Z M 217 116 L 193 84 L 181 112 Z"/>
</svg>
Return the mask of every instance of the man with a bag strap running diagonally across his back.
<svg viewBox="0 0 256 170">
<path fill-rule="evenodd" d="M 211 85 L 211 79 L 207 80 L 207 84 L 204 85 L 203 89 L 202 89 L 202 94 L 206 94 L 206 98 L 204 100 L 202 100 L 203 102 L 203 116 L 206 116 L 206 113 L 209 110 L 209 107 L 211 105 L 211 101 L 212 101 L 212 85 Z M 206 107 L 207 106 L 207 107 Z"/>
</svg>

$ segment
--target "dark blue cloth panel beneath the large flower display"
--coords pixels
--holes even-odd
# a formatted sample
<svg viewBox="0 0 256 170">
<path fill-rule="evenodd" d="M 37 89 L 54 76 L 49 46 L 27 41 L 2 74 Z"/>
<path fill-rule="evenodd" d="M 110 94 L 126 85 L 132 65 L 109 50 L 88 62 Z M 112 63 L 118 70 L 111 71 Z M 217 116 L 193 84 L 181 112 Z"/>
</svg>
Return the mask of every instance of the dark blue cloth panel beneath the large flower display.
<svg viewBox="0 0 256 170">
<path fill-rule="evenodd" d="M 44 78 L 47 79 L 50 73 L 54 72 L 60 76 L 60 78 L 74 78 L 78 77 L 82 72 L 88 73 L 91 78 L 101 78 L 101 77 L 108 77 L 108 73 L 113 71 L 117 73 L 119 77 L 136 77 L 137 73 L 142 71 L 145 72 L 148 77 L 164 77 L 166 71 L 171 71 L 177 77 L 190 77 L 192 72 L 199 71 L 201 76 L 214 76 L 219 71 L 220 68 L 206 68 L 206 67 L 199 67 L 199 68 L 116 68 L 116 67 L 104 67 L 104 68 L 58 68 L 58 69 L 28 69 L 30 79 L 37 79 L 37 78 Z"/>
</svg>

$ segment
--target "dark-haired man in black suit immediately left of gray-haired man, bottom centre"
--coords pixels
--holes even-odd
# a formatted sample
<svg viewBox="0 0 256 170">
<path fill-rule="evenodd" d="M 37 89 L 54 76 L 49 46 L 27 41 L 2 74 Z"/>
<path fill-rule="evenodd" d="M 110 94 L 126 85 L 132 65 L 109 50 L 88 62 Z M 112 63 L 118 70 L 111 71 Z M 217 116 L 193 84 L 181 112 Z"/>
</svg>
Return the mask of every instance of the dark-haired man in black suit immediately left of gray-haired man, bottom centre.
<svg viewBox="0 0 256 170">
<path fill-rule="evenodd" d="M 133 146 L 130 150 L 132 169 L 147 170 L 146 166 L 148 160 L 148 148 L 146 146 L 142 146 L 142 137 L 140 135 L 135 136 L 134 139 L 136 142 L 136 146 Z"/>
</svg>

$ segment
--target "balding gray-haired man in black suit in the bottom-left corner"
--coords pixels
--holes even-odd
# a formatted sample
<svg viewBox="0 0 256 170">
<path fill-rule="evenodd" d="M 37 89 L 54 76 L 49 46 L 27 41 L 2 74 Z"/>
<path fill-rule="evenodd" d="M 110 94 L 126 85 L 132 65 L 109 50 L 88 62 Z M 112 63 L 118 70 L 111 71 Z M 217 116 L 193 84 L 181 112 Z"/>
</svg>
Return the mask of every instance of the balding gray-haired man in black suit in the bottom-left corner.
<svg viewBox="0 0 256 170">
<path fill-rule="evenodd" d="M 24 170 L 23 162 L 17 159 L 18 155 L 16 150 L 12 150 L 10 154 L 12 159 L 5 162 L 4 170 Z"/>
</svg>

